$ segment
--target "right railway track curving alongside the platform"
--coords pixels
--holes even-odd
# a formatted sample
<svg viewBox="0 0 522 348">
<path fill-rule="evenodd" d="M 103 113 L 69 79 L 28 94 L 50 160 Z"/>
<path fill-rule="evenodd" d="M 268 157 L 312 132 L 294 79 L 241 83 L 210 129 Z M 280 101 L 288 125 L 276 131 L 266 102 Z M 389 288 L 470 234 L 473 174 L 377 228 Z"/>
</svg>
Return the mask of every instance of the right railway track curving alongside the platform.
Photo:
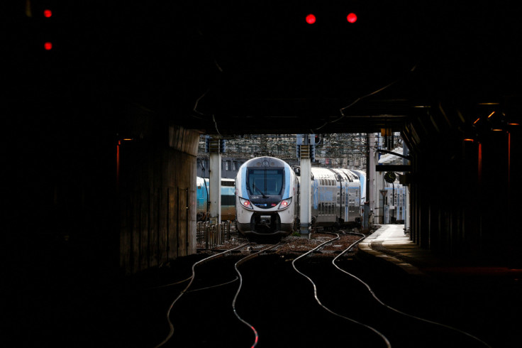
<svg viewBox="0 0 522 348">
<path fill-rule="evenodd" d="M 361 236 L 360 240 L 364 239 L 364 235 Z M 338 235 L 325 244 L 332 243 L 335 239 L 338 239 Z M 321 247 L 323 244 L 299 256 L 294 263 L 310 256 Z M 296 271 L 313 284 L 314 297 L 326 311 L 373 331 L 382 338 L 386 347 L 419 347 L 419 342 L 422 342 L 422 347 L 490 347 L 482 339 L 457 327 L 412 315 L 384 303 L 368 283 L 345 269 L 350 268 L 350 261 L 341 258 L 351 248 L 352 246 L 321 267 L 314 265 L 304 273 L 296 268 Z M 321 296 L 318 296 L 318 289 L 321 288 L 346 289 L 356 293 L 340 291 L 340 294 L 344 292 L 344 295 L 326 295 L 321 302 Z M 355 297 L 359 300 L 353 301 Z M 346 299 L 350 300 L 343 301 Z M 363 335 L 362 332 L 360 335 Z M 426 339 L 427 337 L 431 338 Z"/>
</svg>

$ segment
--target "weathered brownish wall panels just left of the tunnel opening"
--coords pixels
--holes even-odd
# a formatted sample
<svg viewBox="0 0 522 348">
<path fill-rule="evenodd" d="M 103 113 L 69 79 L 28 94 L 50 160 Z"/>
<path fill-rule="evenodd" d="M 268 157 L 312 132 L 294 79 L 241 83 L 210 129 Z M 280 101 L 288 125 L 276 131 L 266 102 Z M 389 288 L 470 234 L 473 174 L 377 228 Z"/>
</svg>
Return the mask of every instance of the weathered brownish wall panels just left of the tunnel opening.
<svg viewBox="0 0 522 348">
<path fill-rule="evenodd" d="M 196 252 L 198 141 L 196 131 L 169 126 L 121 142 L 119 263 L 126 273 Z"/>
</svg>

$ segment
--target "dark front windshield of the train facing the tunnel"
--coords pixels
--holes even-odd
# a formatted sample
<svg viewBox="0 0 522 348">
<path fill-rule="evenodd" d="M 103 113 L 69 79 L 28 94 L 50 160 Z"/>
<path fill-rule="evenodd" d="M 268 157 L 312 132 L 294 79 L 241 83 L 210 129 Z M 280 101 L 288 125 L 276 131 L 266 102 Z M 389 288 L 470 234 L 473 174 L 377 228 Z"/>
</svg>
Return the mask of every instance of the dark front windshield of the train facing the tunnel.
<svg viewBox="0 0 522 348">
<path fill-rule="evenodd" d="M 284 170 L 249 169 L 247 180 L 250 195 L 282 195 Z"/>
</svg>

